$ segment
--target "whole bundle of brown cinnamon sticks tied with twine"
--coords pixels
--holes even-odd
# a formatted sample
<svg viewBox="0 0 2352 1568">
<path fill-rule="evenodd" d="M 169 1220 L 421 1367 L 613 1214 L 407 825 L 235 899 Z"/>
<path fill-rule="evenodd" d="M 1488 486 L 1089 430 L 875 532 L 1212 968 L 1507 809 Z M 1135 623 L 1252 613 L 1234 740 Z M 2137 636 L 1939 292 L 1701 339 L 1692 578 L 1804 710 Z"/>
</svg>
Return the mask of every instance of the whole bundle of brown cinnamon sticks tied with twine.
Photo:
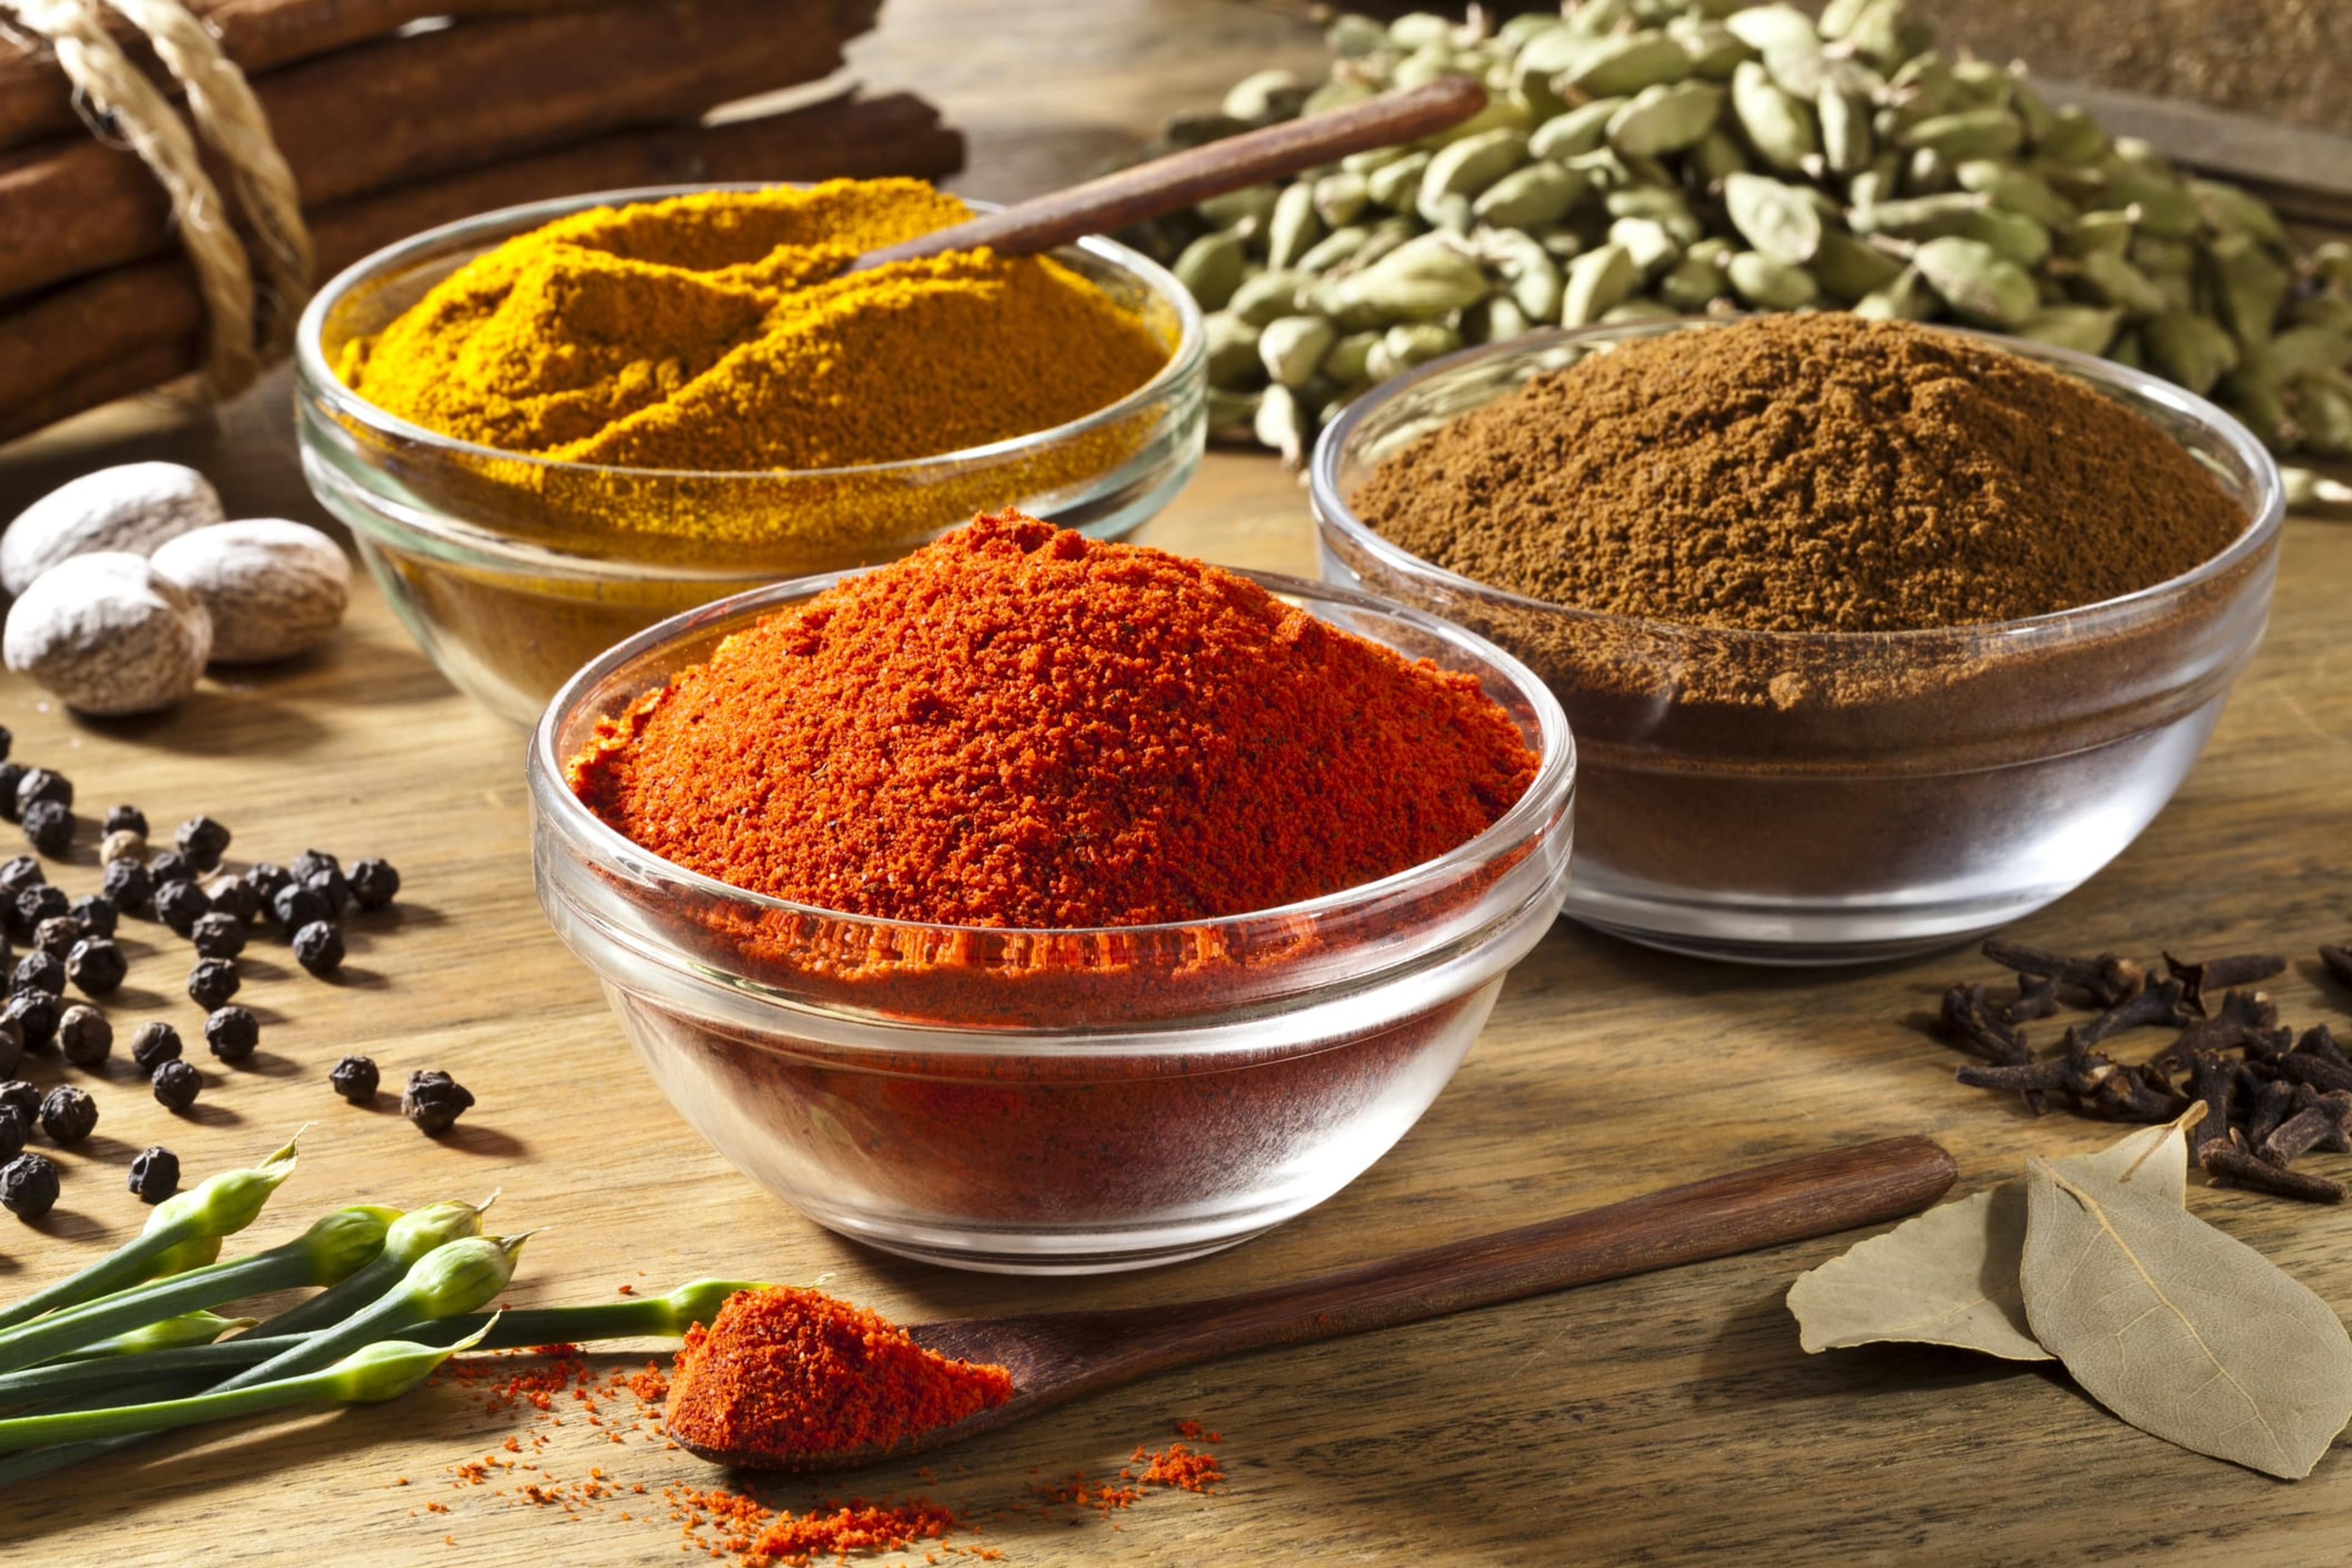
<svg viewBox="0 0 2352 1568">
<path fill-rule="evenodd" d="M 913 96 L 706 125 L 823 80 L 880 0 L 193 0 L 249 75 L 320 280 L 492 207 L 696 179 L 941 176 Z M 155 68 L 134 49 L 134 59 Z M 155 68 L 158 80 L 162 78 Z M 202 299 L 141 165 L 0 42 L 0 442 L 202 362 Z"/>
</svg>

